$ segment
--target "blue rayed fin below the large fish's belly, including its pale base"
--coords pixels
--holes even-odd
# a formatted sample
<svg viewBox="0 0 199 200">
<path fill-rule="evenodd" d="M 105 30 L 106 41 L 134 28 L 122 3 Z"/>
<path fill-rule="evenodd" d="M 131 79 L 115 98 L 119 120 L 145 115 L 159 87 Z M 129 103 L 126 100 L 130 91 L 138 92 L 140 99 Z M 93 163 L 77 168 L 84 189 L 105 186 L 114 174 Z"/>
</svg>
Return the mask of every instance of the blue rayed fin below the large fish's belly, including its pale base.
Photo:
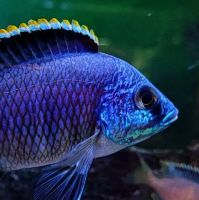
<svg viewBox="0 0 199 200">
<path fill-rule="evenodd" d="M 69 159 L 69 167 L 52 166 L 45 171 L 37 181 L 33 199 L 34 200 L 78 200 L 84 190 L 88 170 L 94 158 L 95 137 L 77 148 L 76 158 Z M 81 147 L 81 148 L 80 148 Z M 80 152 L 81 151 L 81 152 Z M 74 156 L 74 153 L 71 154 Z M 71 164 L 71 160 L 75 164 Z M 67 163 L 67 160 L 63 162 Z"/>
</svg>

